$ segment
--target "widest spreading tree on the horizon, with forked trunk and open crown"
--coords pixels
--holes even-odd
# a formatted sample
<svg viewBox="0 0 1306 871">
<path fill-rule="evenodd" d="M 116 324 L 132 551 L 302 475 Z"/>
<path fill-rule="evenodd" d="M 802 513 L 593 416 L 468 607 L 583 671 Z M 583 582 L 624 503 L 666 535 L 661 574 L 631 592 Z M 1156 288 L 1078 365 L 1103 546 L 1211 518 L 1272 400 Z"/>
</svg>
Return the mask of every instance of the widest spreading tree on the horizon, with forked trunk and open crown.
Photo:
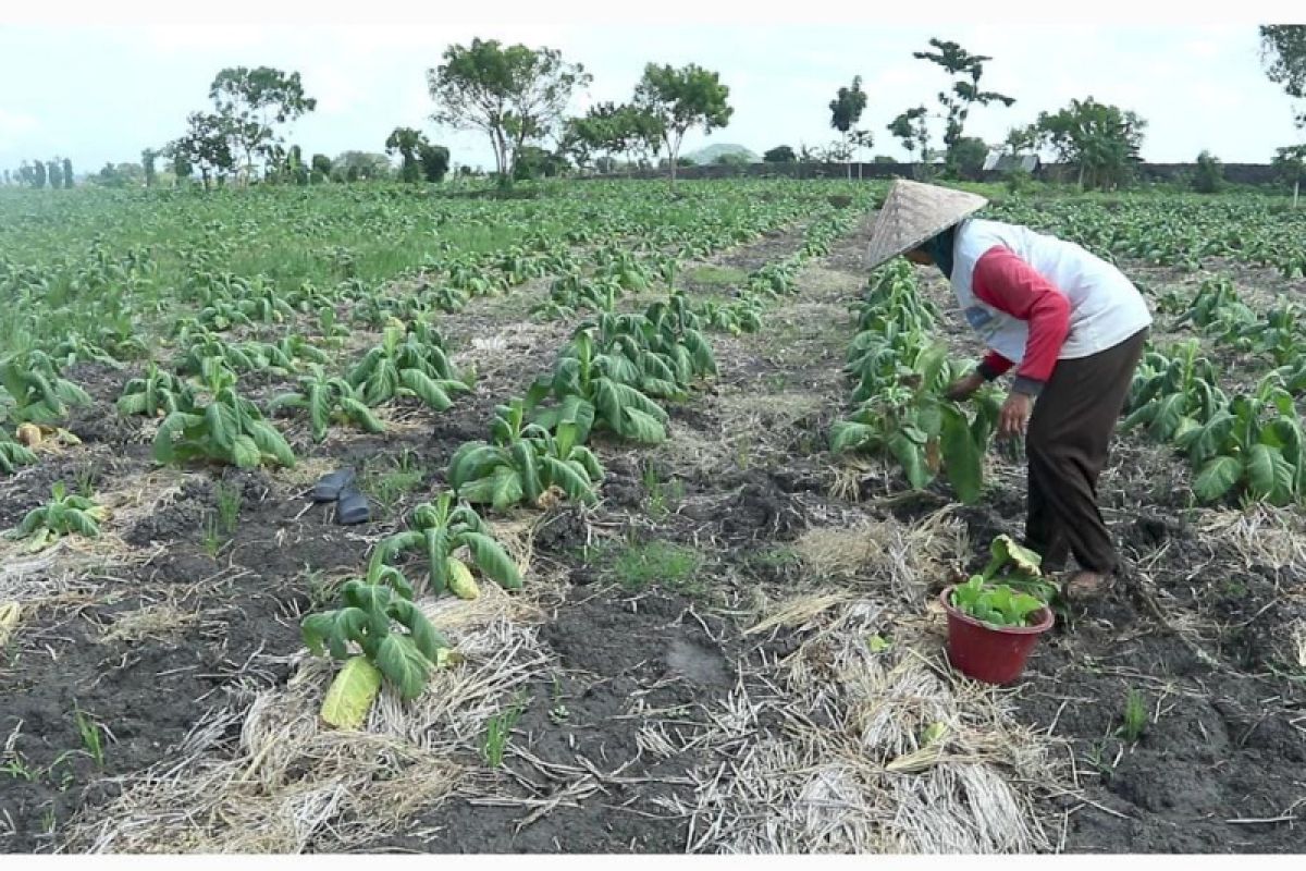
<svg viewBox="0 0 1306 871">
<path fill-rule="evenodd" d="M 577 87 L 592 81 L 581 64 L 552 48 L 473 39 L 449 46 L 444 63 L 426 73 L 436 111 L 431 118 L 490 137 L 500 179 L 511 179 L 521 149 L 550 136 Z"/>
</svg>

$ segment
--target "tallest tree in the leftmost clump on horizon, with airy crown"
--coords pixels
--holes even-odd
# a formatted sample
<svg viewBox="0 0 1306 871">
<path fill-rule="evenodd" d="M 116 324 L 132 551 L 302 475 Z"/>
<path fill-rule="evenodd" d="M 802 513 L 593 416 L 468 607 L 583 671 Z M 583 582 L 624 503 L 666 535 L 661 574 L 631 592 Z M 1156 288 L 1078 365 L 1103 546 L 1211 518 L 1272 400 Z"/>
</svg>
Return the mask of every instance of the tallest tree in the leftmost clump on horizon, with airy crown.
<svg viewBox="0 0 1306 871">
<path fill-rule="evenodd" d="M 273 158 L 279 128 L 317 107 L 299 73 L 272 67 L 229 67 L 213 78 L 209 98 L 226 119 L 231 150 L 244 157 L 247 180 L 255 178 L 256 159 Z"/>
</svg>

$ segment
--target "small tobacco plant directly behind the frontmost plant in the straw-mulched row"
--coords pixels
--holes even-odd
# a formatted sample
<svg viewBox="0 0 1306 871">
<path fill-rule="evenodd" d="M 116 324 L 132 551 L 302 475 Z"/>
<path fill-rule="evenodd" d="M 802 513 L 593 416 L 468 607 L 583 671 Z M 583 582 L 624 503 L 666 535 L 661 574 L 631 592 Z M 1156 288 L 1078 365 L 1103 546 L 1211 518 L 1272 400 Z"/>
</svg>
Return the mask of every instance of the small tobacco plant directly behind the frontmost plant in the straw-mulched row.
<svg viewBox="0 0 1306 871">
<path fill-rule="evenodd" d="M 504 589 L 521 588 L 517 564 L 494 539 L 477 512 L 468 505 L 454 507 L 452 492 L 440 494 L 435 504 L 418 505 L 406 531 L 390 535 L 376 546 L 370 571 L 379 572 L 409 550 L 421 551 L 426 556 L 432 593 L 452 589 L 462 598 L 475 598 L 469 562 Z M 468 559 L 457 555 L 461 551 L 466 552 Z"/>
</svg>

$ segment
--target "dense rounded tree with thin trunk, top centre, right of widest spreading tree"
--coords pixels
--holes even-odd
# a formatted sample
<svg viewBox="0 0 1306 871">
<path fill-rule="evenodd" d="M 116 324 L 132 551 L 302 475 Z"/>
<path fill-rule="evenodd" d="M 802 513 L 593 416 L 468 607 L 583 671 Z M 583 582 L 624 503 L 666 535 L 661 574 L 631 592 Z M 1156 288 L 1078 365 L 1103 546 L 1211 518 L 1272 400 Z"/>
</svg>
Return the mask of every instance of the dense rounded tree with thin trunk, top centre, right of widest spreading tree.
<svg viewBox="0 0 1306 871">
<path fill-rule="evenodd" d="M 684 135 L 695 127 L 701 127 L 704 133 L 727 127 L 734 115 L 729 98 L 730 89 L 721 84 L 721 74 L 697 64 L 679 69 L 669 64 L 644 68 L 644 77 L 635 87 L 635 104 L 650 120 L 645 140 L 666 146 L 671 184 L 675 184 Z"/>
</svg>

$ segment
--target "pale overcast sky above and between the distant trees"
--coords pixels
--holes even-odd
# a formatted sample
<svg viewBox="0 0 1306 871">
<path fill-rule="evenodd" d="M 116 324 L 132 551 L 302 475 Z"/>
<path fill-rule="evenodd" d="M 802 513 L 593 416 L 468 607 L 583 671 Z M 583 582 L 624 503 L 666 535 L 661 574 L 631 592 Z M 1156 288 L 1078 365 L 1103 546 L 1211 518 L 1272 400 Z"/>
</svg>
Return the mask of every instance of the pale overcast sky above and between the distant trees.
<svg viewBox="0 0 1306 871">
<path fill-rule="evenodd" d="M 432 0 L 427 8 L 432 5 L 443 4 Z M 394 16 L 402 24 L 390 24 L 390 13 L 359 12 L 351 17 L 368 24 L 308 13 L 299 24 L 282 17 L 270 25 L 251 16 L 204 25 L 115 14 L 131 25 L 103 26 L 80 24 L 86 18 L 63 10 L 47 18 L 56 21 L 50 26 L 4 24 L 0 167 L 56 154 L 69 157 L 78 171 L 138 161 L 142 148 L 162 146 L 182 132 L 188 112 L 208 107 L 208 85 L 218 69 L 240 64 L 303 74 L 317 111 L 298 121 L 289 140 L 306 154 L 380 151 L 392 128 L 411 125 L 449 145 L 454 162 L 492 166 L 481 138 L 439 131 L 428 120 L 426 71 L 448 44 L 473 37 L 549 46 L 582 63 L 594 81 L 577 95 L 577 111 L 628 98 L 646 61 L 695 61 L 718 71 L 730 86 L 734 119 L 709 138 L 691 135 L 686 151 L 705 142 L 735 142 L 757 153 L 780 144 L 825 145 L 832 140 L 828 102 L 861 74 L 868 95 L 862 127 L 875 135 L 872 150 L 900 157 L 885 124 L 909 106 L 932 107 L 946 84 L 936 67 L 912 57 L 930 37 L 993 56 L 982 85 L 1017 102 L 973 111 L 966 132 L 989 141 L 1000 141 L 1010 127 L 1040 111 L 1088 95 L 1149 121 L 1143 154 L 1153 162 L 1192 161 L 1209 149 L 1226 162 L 1262 163 L 1276 146 L 1299 141 L 1288 98 L 1262 69 L 1254 21 L 1021 26 L 978 24 L 931 8 L 936 24 L 926 26 L 901 20 L 768 24 L 778 16 L 754 5 L 752 14 L 734 24 L 690 24 L 684 16 L 677 25 L 582 24 L 565 13 L 565 21 L 541 24 L 504 13 L 502 3 L 483 7 L 483 20 L 475 8 L 464 8 L 462 20 L 445 24 L 431 16 Z M 324 17 L 329 24 L 306 24 Z M 1096 21 L 1110 17 L 1094 14 Z"/>
</svg>

